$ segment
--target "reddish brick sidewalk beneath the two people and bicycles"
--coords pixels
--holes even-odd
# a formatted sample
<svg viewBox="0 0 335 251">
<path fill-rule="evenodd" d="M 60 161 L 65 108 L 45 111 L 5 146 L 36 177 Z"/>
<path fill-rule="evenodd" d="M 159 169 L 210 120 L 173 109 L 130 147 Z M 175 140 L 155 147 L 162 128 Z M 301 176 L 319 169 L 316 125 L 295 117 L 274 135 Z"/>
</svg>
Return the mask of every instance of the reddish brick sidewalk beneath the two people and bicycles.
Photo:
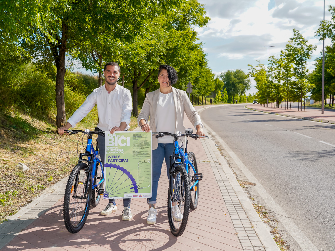
<svg viewBox="0 0 335 251">
<path fill-rule="evenodd" d="M 198 106 L 197 110 L 201 108 Z M 185 118 L 185 127 L 192 128 Z M 1 251 L 279 250 L 214 142 L 211 139 L 189 139 L 188 150 L 195 153 L 199 172 L 204 178 L 200 182 L 198 207 L 190 212 L 181 237 L 171 234 L 167 221 L 168 180 L 163 164 L 155 225 L 146 224 L 148 206 L 145 199 L 132 200 L 133 219 L 128 222 L 121 220 L 121 199 L 117 200 L 117 212 L 100 215 L 107 204 L 102 199 L 96 208 L 91 208 L 83 229 L 70 234 L 62 215 L 64 179 L 49 189 L 49 193 L 35 199 L 34 204 L 0 225 Z"/>
</svg>

